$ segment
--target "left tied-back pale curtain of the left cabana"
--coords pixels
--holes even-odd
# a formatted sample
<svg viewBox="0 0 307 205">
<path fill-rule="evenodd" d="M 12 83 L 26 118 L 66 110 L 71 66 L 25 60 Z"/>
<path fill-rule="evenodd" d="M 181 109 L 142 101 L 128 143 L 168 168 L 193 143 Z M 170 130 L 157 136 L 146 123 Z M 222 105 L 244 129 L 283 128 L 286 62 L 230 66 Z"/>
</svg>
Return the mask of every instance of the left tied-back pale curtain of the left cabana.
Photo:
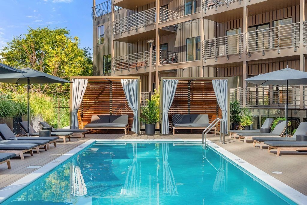
<svg viewBox="0 0 307 205">
<path fill-rule="evenodd" d="M 72 79 L 72 129 L 79 129 L 78 110 L 80 108 L 87 79 Z"/>
</svg>

